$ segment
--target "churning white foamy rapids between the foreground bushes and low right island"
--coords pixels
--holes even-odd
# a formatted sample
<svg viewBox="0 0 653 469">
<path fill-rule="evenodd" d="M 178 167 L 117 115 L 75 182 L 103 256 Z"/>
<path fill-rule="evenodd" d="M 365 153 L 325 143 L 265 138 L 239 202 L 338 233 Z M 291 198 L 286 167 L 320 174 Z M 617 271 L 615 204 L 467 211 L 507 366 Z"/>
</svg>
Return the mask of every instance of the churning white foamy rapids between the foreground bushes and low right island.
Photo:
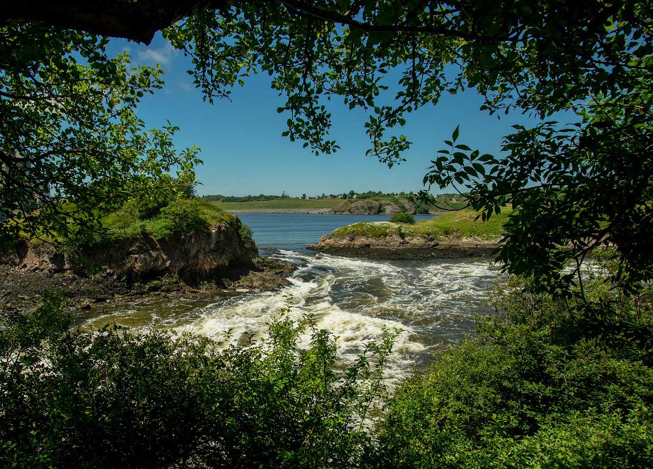
<svg viewBox="0 0 653 469">
<path fill-rule="evenodd" d="M 429 352 L 471 332 L 475 314 L 488 312 L 485 290 L 496 278 L 486 261 L 383 262 L 290 250 L 275 256 L 303 265 L 289 279 L 291 286 L 206 305 L 183 329 L 218 340 L 229 335 L 237 343 L 260 340 L 288 302 L 293 320 L 309 315 L 316 327 L 337 337 L 343 363 L 371 340 L 397 331 L 387 371 L 392 384 L 430 361 Z M 309 342 L 307 334 L 300 346 Z"/>
</svg>

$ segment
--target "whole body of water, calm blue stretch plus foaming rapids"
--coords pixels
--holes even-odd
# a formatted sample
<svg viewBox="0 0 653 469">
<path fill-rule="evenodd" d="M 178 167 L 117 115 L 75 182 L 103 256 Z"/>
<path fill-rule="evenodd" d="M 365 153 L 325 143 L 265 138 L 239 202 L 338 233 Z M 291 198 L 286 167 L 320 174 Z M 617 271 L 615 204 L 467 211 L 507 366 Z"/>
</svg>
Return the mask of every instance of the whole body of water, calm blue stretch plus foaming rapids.
<svg viewBox="0 0 653 469">
<path fill-rule="evenodd" d="M 381 262 L 315 254 L 304 245 L 338 226 L 370 217 L 240 216 L 264 254 L 302 266 L 291 277 L 292 286 L 274 293 L 127 303 L 111 312 L 92 312 L 86 326 L 153 323 L 220 339 L 229 331 L 232 340 L 244 340 L 264 335 L 266 325 L 291 298 L 293 318 L 311 314 L 318 327 L 338 336 L 343 361 L 352 359 L 365 342 L 381 338 L 386 329 L 401 329 L 389 369 L 394 381 L 422 367 L 432 352 L 471 333 L 475 314 L 488 312 L 485 291 L 497 273 L 486 259 Z"/>
</svg>

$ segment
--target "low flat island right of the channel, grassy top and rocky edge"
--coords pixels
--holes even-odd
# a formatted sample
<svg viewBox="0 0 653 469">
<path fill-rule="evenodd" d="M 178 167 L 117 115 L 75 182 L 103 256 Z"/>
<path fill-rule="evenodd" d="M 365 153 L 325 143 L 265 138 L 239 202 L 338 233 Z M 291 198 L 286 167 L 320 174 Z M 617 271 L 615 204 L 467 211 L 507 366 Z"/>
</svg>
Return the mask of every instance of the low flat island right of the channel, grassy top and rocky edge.
<svg viewBox="0 0 653 469">
<path fill-rule="evenodd" d="M 309 249 L 388 260 L 490 256 L 510 211 L 505 208 L 485 222 L 473 211 L 459 211 L 414 224 L 355 223 L 323 236 Z"/>
</svg>

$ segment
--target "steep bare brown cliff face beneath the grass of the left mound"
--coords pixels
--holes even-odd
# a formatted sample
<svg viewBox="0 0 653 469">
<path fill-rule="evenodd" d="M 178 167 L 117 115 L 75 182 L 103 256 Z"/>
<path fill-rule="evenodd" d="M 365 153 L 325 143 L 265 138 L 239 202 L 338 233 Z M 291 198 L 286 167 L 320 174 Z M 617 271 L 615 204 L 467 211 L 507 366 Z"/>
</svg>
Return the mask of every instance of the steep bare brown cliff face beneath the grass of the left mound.
<svg viewBox="0 0 653 469">
<path fill-rule="evenodd" d="M 235 265 L 251 264 L 258 250 L 251 239 L 240 239 L 229 226 L 210 226 L 176 239 L 117 241 L 89 252 L 63 254 L 50 245 L 18 243 L 0 263 L 24 271 L 80 273 L 88 266 L 113 277 L 152 278 L 164 274 L 204 277 Z M 81 258 L 80 264 L 77 258 Z"/>
</svg>

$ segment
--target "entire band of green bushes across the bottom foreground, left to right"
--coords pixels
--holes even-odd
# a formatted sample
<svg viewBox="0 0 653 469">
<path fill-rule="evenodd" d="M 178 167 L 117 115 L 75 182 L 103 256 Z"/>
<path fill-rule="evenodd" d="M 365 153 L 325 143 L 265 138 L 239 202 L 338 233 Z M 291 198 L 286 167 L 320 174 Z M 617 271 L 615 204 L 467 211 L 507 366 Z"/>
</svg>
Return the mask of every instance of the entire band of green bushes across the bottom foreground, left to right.
<svg viewBox="0 0 653 469">
<path fill-rule="evenodd" d="M 613 259 L 595 260 L 571 298 L 499 282 L 497 314 L 385 410 L 392 333 L 343 368 L 337 339 L 289 306 L 268 339 L 236 346 L 228 333 L 83 333 L 48 295 L 0 330 L 0 466 L 648 468 L 650 290 L 614 290 Z"/>
</svg>

